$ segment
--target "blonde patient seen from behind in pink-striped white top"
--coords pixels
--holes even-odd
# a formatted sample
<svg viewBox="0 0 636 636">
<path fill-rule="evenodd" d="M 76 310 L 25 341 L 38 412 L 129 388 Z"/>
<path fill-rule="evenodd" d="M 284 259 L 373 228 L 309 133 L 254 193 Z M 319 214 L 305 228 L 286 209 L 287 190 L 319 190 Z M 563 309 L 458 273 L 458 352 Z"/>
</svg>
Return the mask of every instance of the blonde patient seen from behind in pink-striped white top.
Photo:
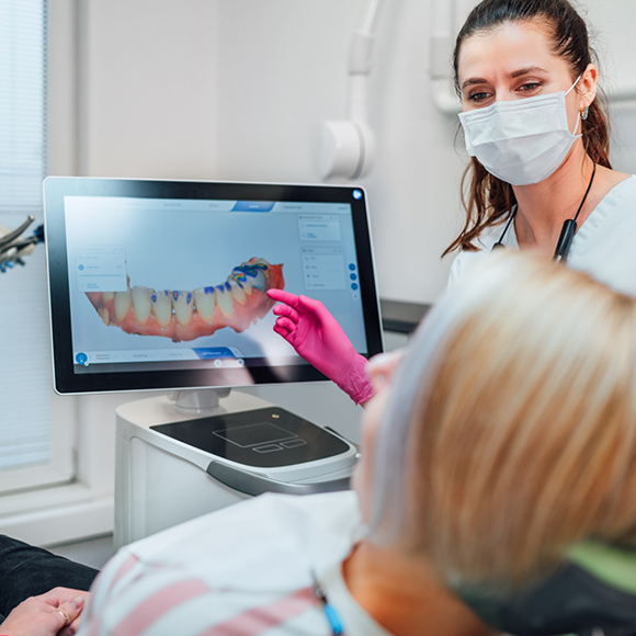
<svg viewBox="0 0 636 636">
<path fill-rule="evenodd" d="M 636 299 L 493 254 L 370 374 L 355 493 L 263 496 L 123 548 L 80 634 L 481 636 L 453 589 L 634 543 Z"/>
</svg>

